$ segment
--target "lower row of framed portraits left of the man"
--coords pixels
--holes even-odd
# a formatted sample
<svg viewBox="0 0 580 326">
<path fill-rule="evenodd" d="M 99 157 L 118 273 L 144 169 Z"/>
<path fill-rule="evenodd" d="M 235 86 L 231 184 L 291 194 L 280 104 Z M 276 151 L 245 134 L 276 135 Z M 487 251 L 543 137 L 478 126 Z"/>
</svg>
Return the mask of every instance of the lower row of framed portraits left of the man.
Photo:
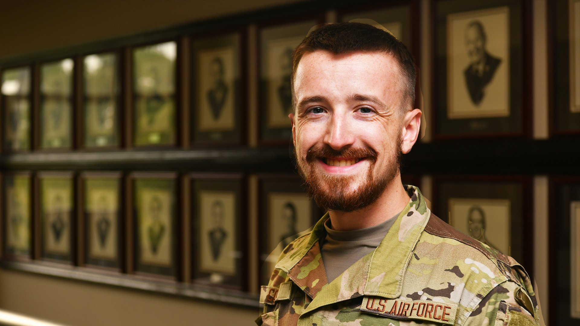
<svg viewBox="0 0 580 326">
<path fill-rule="evenodd" d="M 13 172 L 2 179 L 5 260 L 247 291 L 248 196 L 241 174 Z M 264 256 L 322 215 L 296 176 L 262 176 L 259 184 Z"/>
</svg>

